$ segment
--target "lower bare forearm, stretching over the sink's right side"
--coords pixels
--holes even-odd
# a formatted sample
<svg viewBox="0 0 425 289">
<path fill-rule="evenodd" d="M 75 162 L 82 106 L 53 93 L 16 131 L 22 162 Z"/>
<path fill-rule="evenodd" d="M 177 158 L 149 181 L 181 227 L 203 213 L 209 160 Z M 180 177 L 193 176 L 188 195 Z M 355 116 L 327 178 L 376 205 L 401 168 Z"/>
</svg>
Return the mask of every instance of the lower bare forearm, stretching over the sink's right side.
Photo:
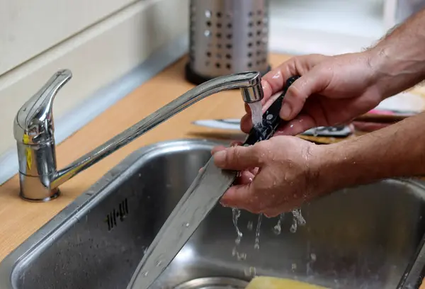
<svg viewBox="0 0 425 289">
<path fill-rule="evenodd" d="M 319 181 L 334 191 L 392 177 L 425 176 L 425 113 L 322 147 Z"/>
</svg>

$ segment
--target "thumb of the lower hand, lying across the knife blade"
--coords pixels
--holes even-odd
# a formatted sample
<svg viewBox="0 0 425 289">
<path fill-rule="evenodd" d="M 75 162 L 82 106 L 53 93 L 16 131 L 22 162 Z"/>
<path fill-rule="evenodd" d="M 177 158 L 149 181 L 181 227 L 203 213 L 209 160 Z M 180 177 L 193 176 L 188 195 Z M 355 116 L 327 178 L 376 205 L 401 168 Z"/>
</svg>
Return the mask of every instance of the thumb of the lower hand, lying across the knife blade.
<svg viewBox="0 0 425 289">
<path fill-rule="evenodd" d="M 254 146 L 249 147 L 228 147 L 216 152 L 214 157 L 215 165 L 222 169 L 232 169 L 242 171 L 260 166 L 260 158 Z"/>
</svg>

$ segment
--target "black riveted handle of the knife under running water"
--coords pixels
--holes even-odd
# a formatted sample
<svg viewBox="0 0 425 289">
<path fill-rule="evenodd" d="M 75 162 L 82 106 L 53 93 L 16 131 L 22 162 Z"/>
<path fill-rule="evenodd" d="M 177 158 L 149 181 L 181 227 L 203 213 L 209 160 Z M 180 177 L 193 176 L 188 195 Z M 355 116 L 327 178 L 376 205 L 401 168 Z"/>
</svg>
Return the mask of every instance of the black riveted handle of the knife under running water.
<svg viewBox="0 0 425 289">
<path fill-rule="evenodd" d="M 286 91 L 288 91 L 289 86 L 294 83 L 295 80 L 300 78 L 299 76 L 290 77 L 285 86 L 283 87 L 283 92 L 280 96 L 274 101 L 268 110 L 263 113 L 262 125 L 256 125 L 251 128 L 248 137 L 244 142 L 244 146 L 254 145 L 256 142 L 261 140 L 268 140 L 273 137 L 274 133 L 280 125 L 287 123 L 285 120 L 282 120 L 279 116 L 280 108 L 282 107 L 283 98 L 285 97 Z"/>
</svg>

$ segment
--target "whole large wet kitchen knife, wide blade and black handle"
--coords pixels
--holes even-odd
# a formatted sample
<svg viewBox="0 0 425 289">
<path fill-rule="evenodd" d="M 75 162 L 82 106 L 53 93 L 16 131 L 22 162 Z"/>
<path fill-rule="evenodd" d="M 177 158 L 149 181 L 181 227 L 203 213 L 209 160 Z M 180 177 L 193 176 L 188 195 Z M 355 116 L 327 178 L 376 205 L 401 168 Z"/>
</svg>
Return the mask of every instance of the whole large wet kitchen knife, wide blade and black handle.
<svg viewBox="0 0 425 289">
<path fill-rule="evenodd" d="M 297 77 L 288 79 L 283 93 L 263 114 L 262 124 L 249 132 L 245 146 L 268 140 L 283 123 L 279 117 L 280 106 L 285 92 L 296 79 Z M 236 176 L 237 171 L 222 170 L 215 166 L 214 160 L 210 158 L 150 244 L 128 284 L 128 289 L 148 289 L 157 280 L 227 188 L 232 186 Z"/>
</svg>

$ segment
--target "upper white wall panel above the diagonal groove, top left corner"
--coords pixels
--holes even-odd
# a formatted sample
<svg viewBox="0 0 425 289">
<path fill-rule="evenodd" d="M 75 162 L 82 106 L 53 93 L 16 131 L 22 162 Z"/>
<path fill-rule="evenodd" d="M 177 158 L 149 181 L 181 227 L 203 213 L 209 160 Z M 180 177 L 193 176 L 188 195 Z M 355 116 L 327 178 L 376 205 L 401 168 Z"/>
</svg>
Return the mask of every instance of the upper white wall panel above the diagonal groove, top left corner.
<svg viewBox="0 0 425 289">
<path fill-rule="evenodd" d="M 134 0 L 0 1 L 0 74 Z"/>
</svg>

